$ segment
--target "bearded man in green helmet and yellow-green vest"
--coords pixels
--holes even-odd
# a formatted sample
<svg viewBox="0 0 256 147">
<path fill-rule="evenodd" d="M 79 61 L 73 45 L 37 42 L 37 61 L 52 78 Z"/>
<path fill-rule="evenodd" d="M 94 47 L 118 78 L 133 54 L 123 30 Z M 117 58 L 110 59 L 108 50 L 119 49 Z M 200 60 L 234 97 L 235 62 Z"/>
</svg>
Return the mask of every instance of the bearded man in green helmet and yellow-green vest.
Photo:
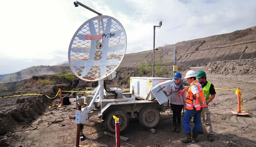
<svg viewBox="0 0 256 147">
<path fill-rule="evenodd" d="M 208 109 L 208 104 L 214 99 L 216 92 L 215 92 L 214 86 L 210 82 L 206 81 L 206 73 L 204 71 L 198 71 L 196 78 L 198 78 L 198 82 L 202 85 L 205 101 L 207 104 L 207 107 L 202 108 L 202 112 L 201 112 L 201 117 L 203 118 L 203 122 L 205 124 L 205 132 L 207 134 L 208 140 L 213 141 L 211 117 L 210 117 L 210 111 Z M 204 133 L 202 121 L 201 121 L 201 129 L 199 133 Z"/>
</svg>

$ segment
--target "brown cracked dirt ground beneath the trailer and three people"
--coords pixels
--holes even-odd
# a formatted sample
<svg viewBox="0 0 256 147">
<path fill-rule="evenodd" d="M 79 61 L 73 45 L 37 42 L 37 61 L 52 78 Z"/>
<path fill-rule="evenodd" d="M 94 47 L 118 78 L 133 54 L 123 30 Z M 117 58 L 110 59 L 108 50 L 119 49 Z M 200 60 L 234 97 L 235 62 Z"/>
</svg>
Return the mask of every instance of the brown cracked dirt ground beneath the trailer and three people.
<svg viewBox="0 0 256 147">
<path fill-rule="evenodd" d="M 204 68 L 193 69 L 207 70 Z M 182 72 L 185 74 L 185 71 Z M 234 91 L 216 90 L 215 99 L 209 104 L 211 112 L 214 141 L 207 140 L 206 134 L 199 134 L 199 142 L 182 143 L 184 131 L 171 132 L 172 113 L 161 114 L 156 133 L 143 128 L 135 118 L 130 119 L 128 128 L 122 136 L 130 138 L 121 141 L 121 146 L 256 146 L 256 75 L 215 75 L 207 74 L 207 80 L 215 88 L 240 87 L 243 94 L 243 105 L 250 116 L 235 116 L 230 111 L 237 110 L 237 96 Z M 65 93 L 64 93 L 65 95 Z M 15 131 L 2 136 L 2 142 L 9 146 L 74 146 L 76 126 L 74 119 L 75 98 L 70 98 L 71 105 L 58 109 L 47 109 L 42 115 L 36 117 L 27 126 L 16 124 Z M 191 122 L 193 126 L 193 123 Z M 182 128 L 183 129 L 183 128 Z M 82 145 L 90 146 L 115 146 L 115 138 L 104 134 L 104 123 L 96 116 L 92 116 L 84 125 L 83 132 L 86 140 L 80 141 Z M 129 145 L 131 144 L 131 145 Z"/>
</svg>

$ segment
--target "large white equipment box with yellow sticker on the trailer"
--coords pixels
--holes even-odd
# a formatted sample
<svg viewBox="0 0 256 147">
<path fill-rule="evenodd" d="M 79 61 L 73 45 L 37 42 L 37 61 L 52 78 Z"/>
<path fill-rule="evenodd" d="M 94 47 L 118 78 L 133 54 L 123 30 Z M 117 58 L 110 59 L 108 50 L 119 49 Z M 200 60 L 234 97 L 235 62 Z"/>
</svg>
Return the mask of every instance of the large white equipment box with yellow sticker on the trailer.
<svg viewBox="0 0 256 147">
<path fill-rule="evenodd" d="M 136 97 L 152 100 L 155 98 L 151 93 L 152 87 L 171 79 L 164 77 L 130 77 L 130 92 L 132 92 L 134 86 L 134 95 Z"/>
</svg>

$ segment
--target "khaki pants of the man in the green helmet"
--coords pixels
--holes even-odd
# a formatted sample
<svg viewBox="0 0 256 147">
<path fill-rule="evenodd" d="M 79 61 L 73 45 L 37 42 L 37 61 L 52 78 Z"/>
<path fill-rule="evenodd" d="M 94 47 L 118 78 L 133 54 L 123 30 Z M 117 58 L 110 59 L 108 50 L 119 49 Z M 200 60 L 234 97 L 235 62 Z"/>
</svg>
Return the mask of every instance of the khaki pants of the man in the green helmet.
<svg viewBox="0 0 256 147">
<path fill-rule="evenodd" d="M 202 108 L 201 117 L 203 118 L 205 127 L 202 126 L 202 121 L 201 121 L 200 132 L 204 132 L 204 128 L 205 128 L 205 132 L 206 132 L 207 136 L 213 137 L 210 111 L 209 111 L 208 107 Z"/>
</svg>

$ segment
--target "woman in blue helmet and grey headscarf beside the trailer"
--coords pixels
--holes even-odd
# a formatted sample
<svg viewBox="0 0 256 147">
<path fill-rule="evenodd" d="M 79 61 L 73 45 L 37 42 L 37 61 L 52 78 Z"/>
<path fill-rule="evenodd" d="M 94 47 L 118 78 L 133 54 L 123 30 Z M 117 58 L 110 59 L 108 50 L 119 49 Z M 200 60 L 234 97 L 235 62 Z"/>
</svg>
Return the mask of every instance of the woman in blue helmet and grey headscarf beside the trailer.
<svg viewBox="0 0 256 147">
<path fill-rule="evenodd" d="M 180 122 L 181 122 L 181 111 L 184 105 L 186 105 L 186 93 L 182 93 L 182 95 L 179 95 L 179 91 L 184 89 L 185 86 L 182 84 L 182 75 L 180 72 L 176 72 L 174 74 L 174 80 L 170 85 L 169 92 L 165 92 L 167 96 L 172 95 L 170 99 L 171 108 L 173 111 L 173 128 L 172 132 L 180 132 Z M 184 107 L 186 108 L 186 106 Z"/>
</svg>

